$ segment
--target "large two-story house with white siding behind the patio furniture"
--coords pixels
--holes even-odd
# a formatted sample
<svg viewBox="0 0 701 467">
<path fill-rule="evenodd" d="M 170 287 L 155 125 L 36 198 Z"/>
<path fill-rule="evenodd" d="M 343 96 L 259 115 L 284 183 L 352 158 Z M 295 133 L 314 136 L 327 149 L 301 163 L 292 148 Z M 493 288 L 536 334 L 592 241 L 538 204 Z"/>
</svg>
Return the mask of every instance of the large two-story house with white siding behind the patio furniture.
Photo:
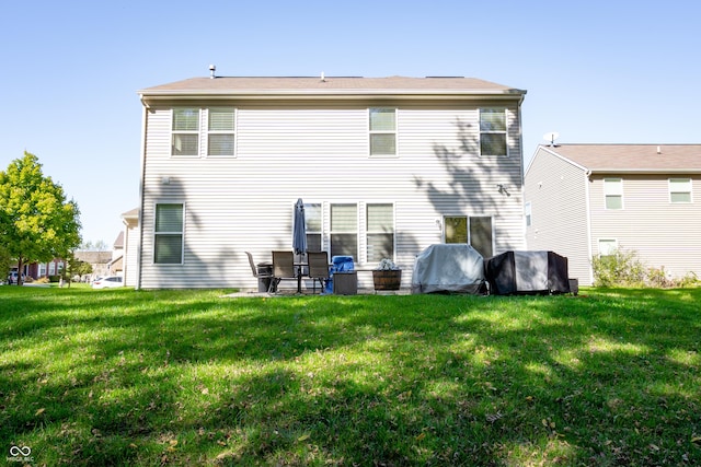
<svg viewBox="0 0 701 467">
<path fill-rule="evenodd" d="M 195 78 L 143 104 L 136 287 L 255 288 L 256 261 L 309 249 L 411 283 L 415 256 L 524 247 L 526 91 L 466 78 Z M 371 275 L 358 275 L 371 287 Z M 291 282 L 291 281 L 290 281 Z M 285 282 L 284 282 L 285 283 Z M 289 284 L 294 287 L 294 284 Z"/>
</svg>

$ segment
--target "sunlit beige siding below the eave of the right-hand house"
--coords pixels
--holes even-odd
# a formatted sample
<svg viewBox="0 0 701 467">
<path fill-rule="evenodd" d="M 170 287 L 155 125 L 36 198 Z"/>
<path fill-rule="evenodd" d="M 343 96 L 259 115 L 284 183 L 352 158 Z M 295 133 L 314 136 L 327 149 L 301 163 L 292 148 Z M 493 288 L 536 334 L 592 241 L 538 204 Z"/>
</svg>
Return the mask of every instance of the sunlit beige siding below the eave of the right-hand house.
<svg viewBox="0 0 701 467">
<path fill-rule="evenodd" d="M 605 209 L 602 179 L 610 176 L 623 179 L 621 210 Z M 701 178 L 691 179 L 692 190 L 698 192 Z M 648 267 L 664 266 L 676 277 L 689 271 L 701 276 L 701 203 L 670 202 L 669 176 L 597 174 L 590 186 L 595 253 L 598 238 L 616 238 L 620 248 L 636 250 Z"/>
</svg>

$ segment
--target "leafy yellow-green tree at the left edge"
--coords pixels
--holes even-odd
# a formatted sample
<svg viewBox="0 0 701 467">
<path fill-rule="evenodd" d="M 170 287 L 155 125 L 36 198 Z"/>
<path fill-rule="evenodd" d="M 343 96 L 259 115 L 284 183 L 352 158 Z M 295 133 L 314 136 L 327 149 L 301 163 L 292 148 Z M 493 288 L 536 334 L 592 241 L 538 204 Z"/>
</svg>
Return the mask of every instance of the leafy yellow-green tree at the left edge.
<svg viewBox="0 0 701 467">
<path fill-rule="evenodd" d="M 80 227 L 78 205 L 44 176 L 36 155 L 25 151 L 0 172 L 0 242 L 20 272 L 27 261 L 68 257 L 80 245 Z"/>
</svg>

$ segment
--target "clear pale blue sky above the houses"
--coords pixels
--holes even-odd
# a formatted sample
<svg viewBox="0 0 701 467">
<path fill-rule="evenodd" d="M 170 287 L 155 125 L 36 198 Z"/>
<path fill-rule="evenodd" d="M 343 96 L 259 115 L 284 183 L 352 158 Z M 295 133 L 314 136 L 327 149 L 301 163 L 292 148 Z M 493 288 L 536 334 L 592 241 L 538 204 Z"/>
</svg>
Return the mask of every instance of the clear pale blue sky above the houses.
<svg viewBox="0 0 701 467">
<path fill-rule="evenodd" d="M 138 206 L 137 91 L 193 77 L 461 75 L 559 142 L 701 143 L 701 3 L 32 1 L 0 7 L 0 170 L 26 150 L 108 244 Z"/>
</svg>

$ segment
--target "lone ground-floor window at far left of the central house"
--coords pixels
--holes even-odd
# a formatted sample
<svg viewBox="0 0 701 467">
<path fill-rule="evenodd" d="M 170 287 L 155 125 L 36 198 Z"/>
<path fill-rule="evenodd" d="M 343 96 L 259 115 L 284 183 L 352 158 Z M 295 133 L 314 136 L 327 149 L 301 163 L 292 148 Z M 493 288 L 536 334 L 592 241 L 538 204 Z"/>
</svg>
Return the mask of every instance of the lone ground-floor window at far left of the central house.
<svg viewBox="0 0 701 467">
<path fill-rule="evenodd" d="M 153 262 L 180 265 L 183 262 L 183 205 L 157 205 L 153 237 Z"/>
</svg>

